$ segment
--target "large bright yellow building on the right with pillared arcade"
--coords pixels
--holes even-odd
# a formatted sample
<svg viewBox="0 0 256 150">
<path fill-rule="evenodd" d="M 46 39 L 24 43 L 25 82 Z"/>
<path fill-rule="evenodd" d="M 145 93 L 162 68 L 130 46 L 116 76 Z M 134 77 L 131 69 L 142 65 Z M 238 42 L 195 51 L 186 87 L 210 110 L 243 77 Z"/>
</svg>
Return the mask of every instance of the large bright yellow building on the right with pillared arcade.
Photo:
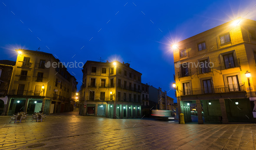
<svg viewBox="0 0 256 150">
<path fill-rule="evenodd" d="M 172 45 L 178 114 L 198 123 L 256 118 L 256 21 L 239 18 Z"/>
</svg>

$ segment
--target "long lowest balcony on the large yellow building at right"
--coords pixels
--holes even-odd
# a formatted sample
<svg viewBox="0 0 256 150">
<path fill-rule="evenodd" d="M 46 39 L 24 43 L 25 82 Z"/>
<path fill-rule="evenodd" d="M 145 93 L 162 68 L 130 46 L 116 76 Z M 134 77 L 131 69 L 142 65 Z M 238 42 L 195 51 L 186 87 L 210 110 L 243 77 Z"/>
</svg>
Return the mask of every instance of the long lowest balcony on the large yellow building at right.
<svg viewBox="0 0 256 150">
<path fill-rule="evenodd" d="M 223 86 L 211 86 L 194 89 L 186 89 L 181 91 L 181 96 L 203 95 L 203 94 L 215 94 L 215 93 L 236 93 L 245 91 L 244 83 L 230 84 Z"/>
</svg>

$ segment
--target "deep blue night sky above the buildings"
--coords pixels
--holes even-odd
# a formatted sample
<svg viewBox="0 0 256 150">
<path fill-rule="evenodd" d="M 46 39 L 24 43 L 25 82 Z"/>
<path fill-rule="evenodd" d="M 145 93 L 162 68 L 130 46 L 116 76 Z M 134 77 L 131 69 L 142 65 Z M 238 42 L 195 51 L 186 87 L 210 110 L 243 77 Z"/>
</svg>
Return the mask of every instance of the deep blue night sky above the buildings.
<svg viewBox="0 0 256 150">
<path fill-rule="evenodd" d="M 255 4 L 252 0 L 0 0 L 0 60 L 16 61 L 15 49 L 39 47 L 66 63 L 117 59 L 141 72 L 142 83 L 169 91 L 174 82 L 170 45 L 248 11 L 244 17 L 256 20 Z M 75 73 L 80 89 L 81 68 L 68 70 Z M 174 89 L 167 95 L 175 98 Z"/>
</svg>

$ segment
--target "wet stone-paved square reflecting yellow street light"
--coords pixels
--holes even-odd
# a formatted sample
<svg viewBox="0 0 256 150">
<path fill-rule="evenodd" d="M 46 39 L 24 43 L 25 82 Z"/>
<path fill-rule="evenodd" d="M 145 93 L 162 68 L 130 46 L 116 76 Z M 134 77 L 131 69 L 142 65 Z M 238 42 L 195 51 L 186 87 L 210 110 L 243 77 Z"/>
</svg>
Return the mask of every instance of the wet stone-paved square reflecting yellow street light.
<svg viewBox="0 0 256 150">
<path fill-rule="evenodd" d="M 74 115 L 75 114 L 75 115 Z M 48 115 L 46 121 L 9 124 L 0 116 L 0 149 L 253 150 L 255 124 L 177 124 L 144 119 Z"/>
</svg>

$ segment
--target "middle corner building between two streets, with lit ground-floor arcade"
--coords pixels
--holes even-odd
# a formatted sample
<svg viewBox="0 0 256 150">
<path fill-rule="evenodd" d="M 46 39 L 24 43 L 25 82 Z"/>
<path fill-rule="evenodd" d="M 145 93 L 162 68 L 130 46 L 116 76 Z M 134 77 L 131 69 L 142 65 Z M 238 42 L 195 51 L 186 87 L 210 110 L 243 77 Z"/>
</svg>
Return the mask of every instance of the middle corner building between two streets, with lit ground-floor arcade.
<svg viewBox="0 0 256 150">
<path fill-rule="evenodd" d="M 87 61 L 83 67 L 81 115 L 141 117 L 141 73 L 128 63 Z"/>
</svg>

